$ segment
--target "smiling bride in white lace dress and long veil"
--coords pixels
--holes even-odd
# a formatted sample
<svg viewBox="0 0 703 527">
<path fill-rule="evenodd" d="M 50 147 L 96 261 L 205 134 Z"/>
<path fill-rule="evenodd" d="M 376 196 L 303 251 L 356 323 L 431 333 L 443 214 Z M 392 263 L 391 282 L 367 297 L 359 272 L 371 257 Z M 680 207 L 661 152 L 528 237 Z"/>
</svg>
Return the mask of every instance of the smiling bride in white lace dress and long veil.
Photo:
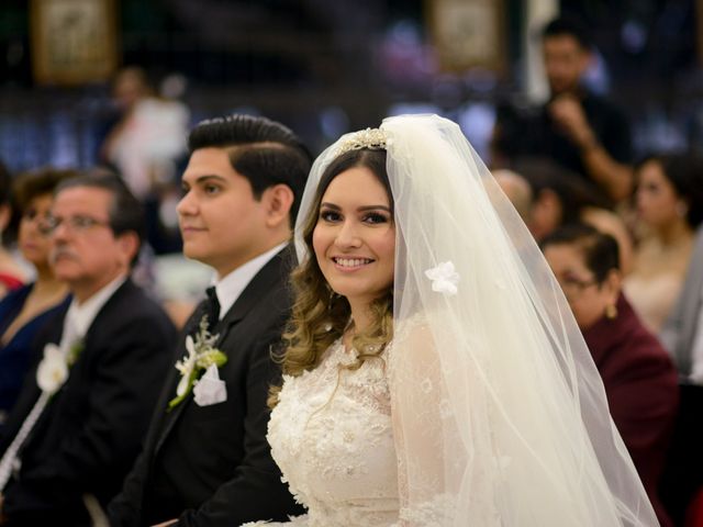
<svg viewBox="0 0 703 527">
<path fill-rule="evenodd" d="M 278 525 L 658 525 L 557 282 L 455 123 L 343 136 L 295 243 L 268 438 L 309 512 Z"/>
</svg>

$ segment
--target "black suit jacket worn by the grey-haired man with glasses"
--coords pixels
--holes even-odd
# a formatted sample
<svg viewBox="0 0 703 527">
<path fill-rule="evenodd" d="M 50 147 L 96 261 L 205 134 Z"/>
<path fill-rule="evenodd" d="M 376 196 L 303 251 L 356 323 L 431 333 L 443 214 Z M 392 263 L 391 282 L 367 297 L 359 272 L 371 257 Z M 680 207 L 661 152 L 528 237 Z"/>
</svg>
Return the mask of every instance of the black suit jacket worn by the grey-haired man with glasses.
<svg viewBox="0 0 703 527">
<path fill-rule="evenodd" d="M 37 344 L 58 343 L 64 307 Z M 4 491 L 10 525 L 90 525 L 82 495 L 107 503 L 140 452 L 176 330 L 131 280 L 98 312 L 68 380 L 44 408 L 21 450 L 19 478 Z M 37 349 L 37 356 L 41 349 Z M 36 369 L 10 414 L 4 452 L 38 397 Z"/>
</svg>

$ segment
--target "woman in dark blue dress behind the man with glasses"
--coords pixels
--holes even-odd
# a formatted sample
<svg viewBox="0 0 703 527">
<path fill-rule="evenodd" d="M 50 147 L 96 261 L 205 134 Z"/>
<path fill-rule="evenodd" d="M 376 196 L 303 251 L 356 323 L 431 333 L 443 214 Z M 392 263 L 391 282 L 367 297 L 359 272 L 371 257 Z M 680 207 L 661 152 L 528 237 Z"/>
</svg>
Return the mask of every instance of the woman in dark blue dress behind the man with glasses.
<svg viewBox="0 0 703 527">
<path fill-rule="evenodd" d="M 0 429 L 30 366 L 34 336 L 47 317 L 68 305 L 68 288 L 54 278 L 48 264 L 49 238 L 43 224 L 54 188 L 75 175 L 70 170 L 43 169 L 22 175 L 15 181 L 22 214 L 18 244 L 22 256 L 36 269 L 36 279 L 0 301 Z"/>
</svg>

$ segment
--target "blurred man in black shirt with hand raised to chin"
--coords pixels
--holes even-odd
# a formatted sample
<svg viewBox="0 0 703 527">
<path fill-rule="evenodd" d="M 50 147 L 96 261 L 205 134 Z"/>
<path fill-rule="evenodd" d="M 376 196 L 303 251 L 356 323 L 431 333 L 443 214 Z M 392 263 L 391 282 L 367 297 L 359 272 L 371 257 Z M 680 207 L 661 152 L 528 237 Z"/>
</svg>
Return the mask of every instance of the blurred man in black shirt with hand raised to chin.
<svg viewBox="0 0 703 527">
<path fill-rule="evenodd" d="M 593 43 L 578 21 L 556 19 L 543 30 L 549 100 L 536 114 L 499 109 L 495 158 L 547 156 L 620 202 L 632 191 L 632 138 L 624 114 L 583 85 Z"/>
</svg>

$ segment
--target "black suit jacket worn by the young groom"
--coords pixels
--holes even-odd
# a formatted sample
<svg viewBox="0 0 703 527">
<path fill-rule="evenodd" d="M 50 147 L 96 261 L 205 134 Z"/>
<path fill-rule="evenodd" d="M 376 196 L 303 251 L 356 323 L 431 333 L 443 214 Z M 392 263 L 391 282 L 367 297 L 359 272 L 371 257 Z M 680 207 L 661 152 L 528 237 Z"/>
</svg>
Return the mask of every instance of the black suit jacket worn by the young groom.
<svg viewBox="0 0 703 527">
<path fill-rule="evenodd" d="M 122 494 L 110 504 L 113 526 L 179 518 L 179 525 L 231 527 L 300 514 L 266 440 L 267 394 L 278 382 L 270 352 L 289 315 L 291 254 L 288 248 L 271 259 L 212 330 L 220 335 L 216 347 L 227 356 L 220 368 L 225 402 L 199 406 L 191 393 L 167 412 L 179 380 L 169 367 L 145 449 Z M 186 333 L 203 312 L 204 304 L 186 324 Z M 185 354 L 181 341 L 174 360 Z"/>
</svg>

